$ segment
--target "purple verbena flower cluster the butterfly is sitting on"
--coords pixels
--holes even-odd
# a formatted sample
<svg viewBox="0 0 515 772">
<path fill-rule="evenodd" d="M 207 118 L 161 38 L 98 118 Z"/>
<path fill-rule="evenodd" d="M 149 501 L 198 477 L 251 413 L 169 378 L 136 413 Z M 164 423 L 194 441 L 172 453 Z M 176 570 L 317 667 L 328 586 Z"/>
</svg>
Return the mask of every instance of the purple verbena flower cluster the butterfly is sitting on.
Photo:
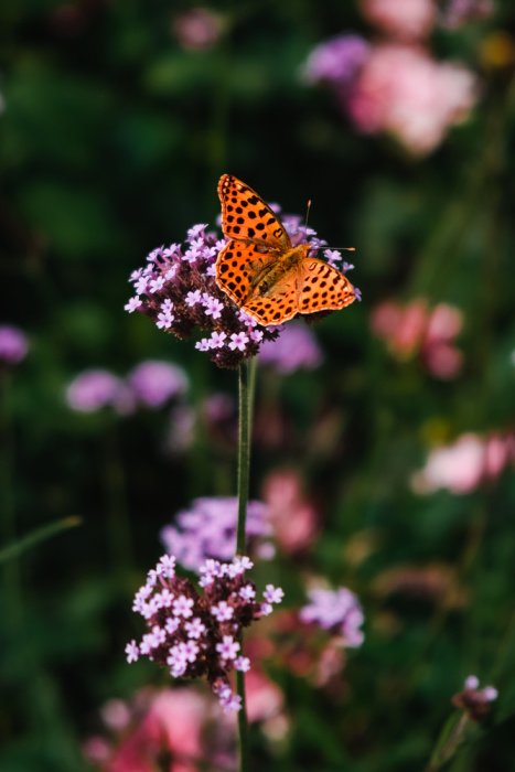
<svg viewBox="0 0 515 772">
<path fill-rule="evenodd" d="M 275 211 L 279 207 L 273 205 Z M 325 245 L 314 238 L 314 230 L 300 224 L 300 217 L 283 217 L 282 224 L 293 246 L 311 237 L 313 249 Z M 144 268 L 133 271 L 130 281 L 136 294 L 125 305 L 126 311 L 140 311 L 165 332 L 187 339 L 196 328 L 211 332 L 195 344 L 219 367 L 238 367 L 246 358 L 256 356 L 261 343 L 275 341 L 285 329 L 282 324 L 264 326 L 243 311 L 219 289 L 215 280 L 215 264 L 225 247 L 207 225 L 194 225 L 184 245 L 153 249 Z M 340 253 L 325 250 L 330 265 L 341 259 Z M 344 264 L 342 270 L 352 266 Z M 358 292 L 356 292 L 356 297 Z M 312 319 L 321 314 L 309 314 Z"/>
</svg>

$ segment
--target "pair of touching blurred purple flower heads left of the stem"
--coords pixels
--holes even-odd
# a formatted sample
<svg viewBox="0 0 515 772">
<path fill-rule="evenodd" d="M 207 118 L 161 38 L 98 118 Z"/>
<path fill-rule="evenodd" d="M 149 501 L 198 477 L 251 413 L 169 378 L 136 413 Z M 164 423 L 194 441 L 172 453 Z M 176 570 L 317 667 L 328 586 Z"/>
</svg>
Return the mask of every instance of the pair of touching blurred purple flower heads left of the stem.
<svg viewBox="0 0 515 772">
<path fill-rule="evenodd" d="M 106 369 L 84 371 L 68 385 L 66 401 L 79 412 L 94 412 L 110 406 L 126 416 L 138 407 L 163 407 L 186 390 L 187 377 L 182 367 L 148 360 L 137 365 L 125 379 Z"/>
</svg>

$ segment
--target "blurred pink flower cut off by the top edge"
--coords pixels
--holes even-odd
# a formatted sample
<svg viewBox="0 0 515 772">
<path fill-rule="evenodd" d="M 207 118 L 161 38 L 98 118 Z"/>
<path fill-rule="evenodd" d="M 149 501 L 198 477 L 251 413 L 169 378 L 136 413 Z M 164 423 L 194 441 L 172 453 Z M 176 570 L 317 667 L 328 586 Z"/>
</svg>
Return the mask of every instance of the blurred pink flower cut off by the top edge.
<svg viewBox="0 0 515 772">
<path fill-rule="evenodd" d="M 437 15 L 433 0 L 362 0 L 363 15 L 393 37 L 425 37 Z"/>
</svg>

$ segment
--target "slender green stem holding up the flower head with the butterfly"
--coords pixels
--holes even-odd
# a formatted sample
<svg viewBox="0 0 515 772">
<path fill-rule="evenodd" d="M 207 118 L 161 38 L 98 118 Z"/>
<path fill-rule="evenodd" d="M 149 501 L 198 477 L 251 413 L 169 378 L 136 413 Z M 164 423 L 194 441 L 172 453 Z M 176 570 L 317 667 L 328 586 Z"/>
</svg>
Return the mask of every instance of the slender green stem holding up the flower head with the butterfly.
<svg viewBox="0 0 515 772">
<path fill-rule="evenodd" d="M 254 365 L 255 367 L 255 365 Z M 239 443 L 238 443 L 238 527 L 236 532 L 236 554 L 245 555 L 245 521 L 248 502 L 248 475 L 250 462 L 250 425 L 251 425 L 251 392 L 254 382 L 249 377 L 250 366 L 247 362 L 239 365 Z M 238 637 L 243 654 L 243 631 Z M 242 709 L 238 711 L 239 733 L 239 772 L 248 771 L 248 722 L 245 703 L 245 674 L 236 672 L 236 691 L 242 697 Z"/>
</svg>

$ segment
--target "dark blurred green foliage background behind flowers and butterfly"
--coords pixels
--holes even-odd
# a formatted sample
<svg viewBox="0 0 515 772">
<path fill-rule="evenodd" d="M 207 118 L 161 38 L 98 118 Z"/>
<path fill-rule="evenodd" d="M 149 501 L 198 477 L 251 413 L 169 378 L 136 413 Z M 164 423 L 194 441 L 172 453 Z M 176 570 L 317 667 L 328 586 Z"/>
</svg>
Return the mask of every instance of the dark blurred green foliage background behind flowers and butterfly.
<svg viewBox="0 0 515 772">
<path fill-rule="evenodd" d="M 235 373 L 124 311 L 128 276 L 151 249 L 215 224 L 224 172 L 286 212 L 303 215 L 311 199 L 318 234 L 356 247 L 351 279 L 363 292 L 315 328 L 319 368 L 258 373 L 251 495 L 292 467 L 323 524 L 305 554 L 280 554 L 262 577 L 292 605 L 303 602 L 303 575 L 348 586 L 366 622 L 337 698 L 275 674 L 291 730 L 279 750 L 255 730 L 255 769 L 422 770 L 471 673 L 500 698 L 451 768 L 515 769 L 513 464 L 465 495 L 410 487 L 436 441 L 514 427 L 514 68 L 509 55 L 484 63 L 492 35 L 513 41 L 513 3 L 436 29 L 433 54 L 459 58 L 481 88 L 469 119 L 423 158 L 360 133 L 329 90 L 301 79 L 328 37 L 374 39 L 357 4 L 213 2 L 217 37 L 201 49 L 178 28 L 192 8 L 0 6 L 0 322 L 30 340 L 25 361 L 2 375 L 4 544 L 82 518 L 3 567 L 0 769 L 89 769 L 81 747 L 101 704 L 167 680 L 125 662 L 126 642 L 142 632 L 131 597 L 174 513 L 195 496 L 234 493 L 234 448 L 221 459 L 200 421 L 193 442 L 170 454 L 165 410 L 73 412 L 65 389 L 86 368 L 125 376 L 161 358 L 186 369 L 193 408 L 236 395 Z M 416 298 L 463 314 L 452 379 L 432 377 L 417 356 L 396 358 L 371 332 L 378 303 Z M 382 590 L 385 572 L 407 565 L 450 572 L 459 600 L 449 588 Z"/>
</svg>

